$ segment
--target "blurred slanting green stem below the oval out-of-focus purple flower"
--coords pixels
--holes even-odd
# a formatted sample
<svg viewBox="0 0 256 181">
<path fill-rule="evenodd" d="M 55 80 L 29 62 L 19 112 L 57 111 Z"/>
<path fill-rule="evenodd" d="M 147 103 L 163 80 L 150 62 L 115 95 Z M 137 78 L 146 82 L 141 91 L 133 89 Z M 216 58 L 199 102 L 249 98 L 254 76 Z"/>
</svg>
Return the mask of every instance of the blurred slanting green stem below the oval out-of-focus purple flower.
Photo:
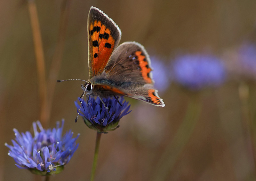
<svg viewBox="0 0 256 181">
<path fill-rule="evenodd" d="M 183 122 L 160 157 L 152 180 L 166 180 L 180 153 L 187 145 L 201 111 L 201 104 L 198 98 L 199 95 L 197 93 L 192 93 Z"/>
</svg>

